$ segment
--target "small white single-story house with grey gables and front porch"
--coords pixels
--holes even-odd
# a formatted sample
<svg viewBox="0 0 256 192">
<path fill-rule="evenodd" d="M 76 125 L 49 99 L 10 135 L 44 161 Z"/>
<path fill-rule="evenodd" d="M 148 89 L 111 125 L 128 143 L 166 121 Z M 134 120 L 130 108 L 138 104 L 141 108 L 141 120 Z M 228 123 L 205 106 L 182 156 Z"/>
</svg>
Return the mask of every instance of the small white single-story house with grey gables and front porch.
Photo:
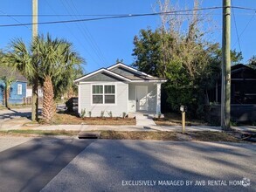
<svg viewBox="0 0 256 192">
<path fill-rule="evenodd" d="M 79 90 L 78 112 L 101 116 L 112 113 L 161 113 L 160 79 L 123 63 L 86 74 L 74 82 Z"/>
</svg>

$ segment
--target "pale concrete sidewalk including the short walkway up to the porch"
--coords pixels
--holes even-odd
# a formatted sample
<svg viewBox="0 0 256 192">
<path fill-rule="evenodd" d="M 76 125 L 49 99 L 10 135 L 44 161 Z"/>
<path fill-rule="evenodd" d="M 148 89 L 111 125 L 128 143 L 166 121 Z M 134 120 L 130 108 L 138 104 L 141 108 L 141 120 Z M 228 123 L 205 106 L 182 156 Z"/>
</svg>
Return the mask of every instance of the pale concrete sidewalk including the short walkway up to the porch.
<svg viewBox="0 0 256 192">
<path fill-rule="evenodd" d="M 39 125 L 28 124 L 31 120 L 27 118 L 15 118 L 11 120 L 1 120 L 0 130 L 7 131 L 11 129 L 31 129 L 31 130 L 66 130 L 66 131 L 99 131 L 99 130 L 113 130 L 113 131 L 168 131 L 168 132 L 180 132 L 181 126 L 156 126 L 155 122 L 148 117 L 136 118 L 135 126 L 95 126 L 95 125 Z M 256 127 L 244 126 L 244 127 L 232 127 L 232 129 L 245 132 L 256 132 Z M 221 132 L 221 127 L 210 126 L 191 126 L 186 127 L 186 131 L 213 131 Z"/>
</svg>

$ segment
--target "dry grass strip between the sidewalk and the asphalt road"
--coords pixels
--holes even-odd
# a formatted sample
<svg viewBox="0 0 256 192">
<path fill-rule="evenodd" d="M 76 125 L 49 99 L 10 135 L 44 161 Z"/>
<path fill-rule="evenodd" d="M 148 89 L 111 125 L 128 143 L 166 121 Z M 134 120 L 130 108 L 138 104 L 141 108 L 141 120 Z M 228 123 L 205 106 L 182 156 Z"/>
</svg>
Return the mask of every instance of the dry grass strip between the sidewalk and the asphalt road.
<svg viewBox="0 0 256 192">
<path fill-rule="evenodd" d="M 90 131 L 88 131 L 90 132 Z M 97 131 L 98 132 L 98 131 Z M 181 141 L 180 132 L 136 132 L 136 131 L 99 131 L 100 139 L 106 140 L 156 140 L 156 141 Z M 0 131 L 0 136 L 77 136 L 80 131 L 66 130 L 10 130 Z M 244 142 L 235 137 L 234 133 L 225 132 L 188 132 L 191 141 L 225 141 L 225 142 Z"/>
</svg>

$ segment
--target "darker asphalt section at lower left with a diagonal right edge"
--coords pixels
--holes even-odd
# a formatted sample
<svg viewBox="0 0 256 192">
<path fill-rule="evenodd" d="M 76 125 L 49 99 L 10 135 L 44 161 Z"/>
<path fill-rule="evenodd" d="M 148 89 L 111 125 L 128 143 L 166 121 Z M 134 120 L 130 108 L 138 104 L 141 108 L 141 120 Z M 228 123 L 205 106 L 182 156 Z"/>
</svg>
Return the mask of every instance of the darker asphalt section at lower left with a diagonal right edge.
<svg viewBox="0 0 256 192">
<path fill-rule="evenodd" d="M 75 138 L 9 138 L 0 153 L 0 191 L 35 192 L 93 141 Z M 9 142 L 9 148 L 7 147 Z"/>
</svg>

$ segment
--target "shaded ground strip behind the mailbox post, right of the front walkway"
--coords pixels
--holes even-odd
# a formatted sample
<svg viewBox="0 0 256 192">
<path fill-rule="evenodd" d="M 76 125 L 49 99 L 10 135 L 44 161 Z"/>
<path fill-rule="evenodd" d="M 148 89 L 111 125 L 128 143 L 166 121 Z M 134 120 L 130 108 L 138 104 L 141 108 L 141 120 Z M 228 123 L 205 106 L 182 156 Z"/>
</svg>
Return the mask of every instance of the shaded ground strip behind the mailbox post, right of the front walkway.
<svg viewBox="0 0 256 192">
<path fill-rule="evenodd" d="M 153 119 L 157 126 L 181 126 L 182 115 L 181 113 L 165 113 L 164 118 Z M 192 119 L 186 117 L 186 126 L 209 126 L 204 120 Z"/>
</svg>

